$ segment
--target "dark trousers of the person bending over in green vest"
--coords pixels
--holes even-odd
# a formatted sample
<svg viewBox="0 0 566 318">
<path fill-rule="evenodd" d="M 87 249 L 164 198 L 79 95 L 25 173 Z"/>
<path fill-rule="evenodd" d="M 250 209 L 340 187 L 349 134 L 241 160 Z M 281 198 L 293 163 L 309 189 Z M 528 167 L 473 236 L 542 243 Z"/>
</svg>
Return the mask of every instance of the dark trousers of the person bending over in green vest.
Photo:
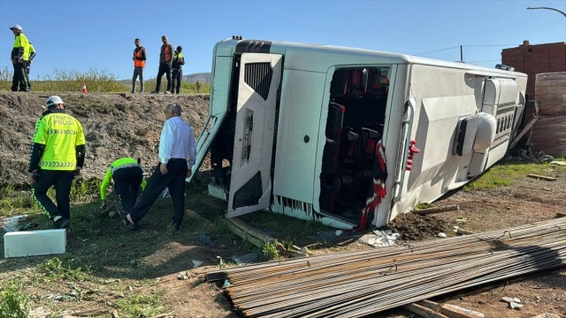
<svg viewBox="0 0 566 318">
<path fill-rule="evenodd" d="M 134 212 L 135 200 L 140 194 L 140 185 L 143 181 L 141 167 L 125 167 L 114 171 L 114 192 L 118 194 L 126 214 Z"/>
</svg>

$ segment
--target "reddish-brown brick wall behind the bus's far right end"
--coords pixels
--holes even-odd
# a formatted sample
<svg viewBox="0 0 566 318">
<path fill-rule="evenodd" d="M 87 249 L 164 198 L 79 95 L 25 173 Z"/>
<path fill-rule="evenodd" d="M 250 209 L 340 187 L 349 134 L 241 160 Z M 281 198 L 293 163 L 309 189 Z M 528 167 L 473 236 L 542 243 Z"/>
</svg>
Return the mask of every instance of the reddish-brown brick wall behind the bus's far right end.
<svg viewBox="0 0 566 318">
<path fill-rule="evenodd" d="M 566 72 L 566 43 L 531 45 L 524 41 L 519 47 L 502 50 L 501 62 L 529 76 L 527 93 L 534 100 L 537 74 Z"/>
</svg>

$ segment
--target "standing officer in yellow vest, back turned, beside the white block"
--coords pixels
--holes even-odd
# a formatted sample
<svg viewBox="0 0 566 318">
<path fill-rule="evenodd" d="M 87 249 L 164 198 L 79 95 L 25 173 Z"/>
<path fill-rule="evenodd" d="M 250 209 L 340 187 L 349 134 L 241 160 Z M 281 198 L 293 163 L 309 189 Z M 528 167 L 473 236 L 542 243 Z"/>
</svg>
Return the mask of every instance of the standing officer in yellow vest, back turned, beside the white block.
<svg viewBox="0 0 566 318">
<path fill-rule="evenodd" d="M 65 112 L 61 97 L 47 99 L 47 111 L 35 123 L 27 177 L 33 184 L 32 194 L 56 229 L 69 226 L 69 194 L 74 175 L 80 173 L 85 160 L 85 136 L 79 120 Z M 47 196 L 55 186 L 57 206 Z"/>
</svg>

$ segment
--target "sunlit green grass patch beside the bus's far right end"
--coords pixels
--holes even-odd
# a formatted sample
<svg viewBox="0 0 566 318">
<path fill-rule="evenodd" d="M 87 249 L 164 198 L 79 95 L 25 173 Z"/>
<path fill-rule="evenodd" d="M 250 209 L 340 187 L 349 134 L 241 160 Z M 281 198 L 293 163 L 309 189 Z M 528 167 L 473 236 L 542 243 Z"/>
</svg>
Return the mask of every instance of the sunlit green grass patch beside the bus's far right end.
<svg viewBox="0 0 566 318">
<path fill-rule="evenodd" d="M 494 190 L 512 185 L 517 179 L 524 178 L 527 174 L 552 176 L 556 172 L 566 172 L 566 167 L 551 165 L 550 163 L 502 160 L 489 168 L 483 175 L 466 184 L 463 190 Z"/>
</svg>

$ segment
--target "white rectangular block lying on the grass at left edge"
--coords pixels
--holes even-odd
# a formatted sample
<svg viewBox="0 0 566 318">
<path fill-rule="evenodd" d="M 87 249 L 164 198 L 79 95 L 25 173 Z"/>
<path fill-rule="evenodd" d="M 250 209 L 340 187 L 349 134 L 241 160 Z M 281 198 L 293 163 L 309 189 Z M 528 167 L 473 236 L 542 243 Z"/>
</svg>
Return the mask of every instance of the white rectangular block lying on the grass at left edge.
<svg viewBox="0 0 566 318">
<path fill-rule="evenodd" d="M 66 229 L 8 232 L 4 234 L 4 257 L 62 254 L 66 233 Z"/>
</svg>

